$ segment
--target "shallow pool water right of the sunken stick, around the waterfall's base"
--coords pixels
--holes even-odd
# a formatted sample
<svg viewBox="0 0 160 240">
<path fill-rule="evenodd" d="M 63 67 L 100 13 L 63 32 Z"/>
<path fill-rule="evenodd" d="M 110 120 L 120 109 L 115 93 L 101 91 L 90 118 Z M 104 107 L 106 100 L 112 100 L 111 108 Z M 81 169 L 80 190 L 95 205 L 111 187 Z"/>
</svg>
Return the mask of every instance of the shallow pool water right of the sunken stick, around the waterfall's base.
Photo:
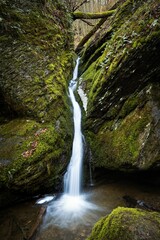
<svg viewBox="0 0 160 240">
<path fill-rule="evenodd" d="M 118 206 L 126 206 L 124 195 L 160 208 L 158 187 L 133 183 L 131 180 L 104 181 L 84 193 L 84 203 L 81 205 L 79 216 L 68 213 L 67 217 L 61 199 L 51 202 L 36 240 L 86 239 L 100 217 L 108 215 Z"/>
</svg>

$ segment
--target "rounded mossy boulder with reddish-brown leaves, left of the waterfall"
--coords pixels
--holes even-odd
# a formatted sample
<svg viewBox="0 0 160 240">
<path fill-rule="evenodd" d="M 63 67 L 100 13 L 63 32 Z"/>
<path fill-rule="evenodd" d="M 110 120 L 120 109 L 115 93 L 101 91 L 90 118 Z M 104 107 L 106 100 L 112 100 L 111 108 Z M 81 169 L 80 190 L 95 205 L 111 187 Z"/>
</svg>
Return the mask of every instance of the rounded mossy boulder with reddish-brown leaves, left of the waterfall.
<svg viewBox="0 0 160 240">
<path fill-rule="evenodd" d="M 15 119 L 0 126 L 0 183 L 34 194 L 60 184 L 69 159 L 71 138 L 61 125 Z"/>
</svg>

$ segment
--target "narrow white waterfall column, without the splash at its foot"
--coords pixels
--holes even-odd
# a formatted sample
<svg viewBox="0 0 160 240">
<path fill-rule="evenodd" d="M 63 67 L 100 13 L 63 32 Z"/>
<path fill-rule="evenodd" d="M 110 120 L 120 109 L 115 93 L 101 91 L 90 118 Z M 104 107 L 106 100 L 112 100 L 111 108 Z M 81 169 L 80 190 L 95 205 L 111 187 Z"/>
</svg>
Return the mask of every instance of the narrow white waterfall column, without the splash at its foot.
<svg viewBox="0 0 160 240">
<path fill-rule="evenodd" d="M 69 85 L 69 96 L 73 106 L 74 138 L 72 155 L 67 172 L 64 176 L 64 192 L 70 196 L 80 195 L 81 169 L 83 160 L 83 141 L 81 132 L 81 109 L 75 99 L 74 91 L 77 85 L 79 58 L 73 72 L 73 78 Z"/>
</svg>

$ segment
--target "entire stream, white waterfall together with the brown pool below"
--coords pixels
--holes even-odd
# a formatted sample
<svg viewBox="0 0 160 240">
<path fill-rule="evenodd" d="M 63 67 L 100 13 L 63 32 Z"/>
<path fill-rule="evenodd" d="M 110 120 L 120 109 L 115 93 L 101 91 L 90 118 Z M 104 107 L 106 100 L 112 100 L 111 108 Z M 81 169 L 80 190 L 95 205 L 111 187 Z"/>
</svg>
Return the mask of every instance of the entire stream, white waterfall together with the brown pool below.
<svg viewBox="0 0 160 240">
<path fill-rule="evenodd" d="M 81 189 L 83 162 L 83 136 L 81 109 L 74 91 L 78 77 L 77 59 L 69 85 L 74 120 L 72 154 L 64 176 L 64 192 L 47 195 L 38 200 L 17 204 L 1 211 L 0 236 L 2 240 L 20 240 L 29 234 L 37 221 L 41 206 L 46 209 L 40 229 L 29 240 L 85 240 L 100 217 L 108 215 L 118 206 L 126 206 L 124 196 L 143 201 L 160 209 L 160 189 L 135 181 L 115 172 L 103 172 L 91 187 Z M 103 177 L 102 177 L 103 176 Z"/>
</svg>

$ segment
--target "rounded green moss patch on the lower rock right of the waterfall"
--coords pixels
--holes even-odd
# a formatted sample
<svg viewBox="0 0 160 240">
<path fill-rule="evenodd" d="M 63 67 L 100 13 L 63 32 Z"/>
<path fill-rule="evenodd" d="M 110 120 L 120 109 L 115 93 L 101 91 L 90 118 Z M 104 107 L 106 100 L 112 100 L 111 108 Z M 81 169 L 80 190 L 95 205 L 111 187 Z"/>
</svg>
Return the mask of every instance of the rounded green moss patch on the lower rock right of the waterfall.
<svg viewBox="0 0 160 240">
<path fill-rule="evenodd" d="M 141 145 L 139 136 L 144 131 L 149 122 L 147 111 L 143 114 L 133 113 L 128 116 L 121 126 L 115 130 L 113 148 L 118 150 L 118 159 L 128 163 L 136 163 L 140 154 Z M 139 117 L 140 116 L 140 117 Z"/>
</svg>

